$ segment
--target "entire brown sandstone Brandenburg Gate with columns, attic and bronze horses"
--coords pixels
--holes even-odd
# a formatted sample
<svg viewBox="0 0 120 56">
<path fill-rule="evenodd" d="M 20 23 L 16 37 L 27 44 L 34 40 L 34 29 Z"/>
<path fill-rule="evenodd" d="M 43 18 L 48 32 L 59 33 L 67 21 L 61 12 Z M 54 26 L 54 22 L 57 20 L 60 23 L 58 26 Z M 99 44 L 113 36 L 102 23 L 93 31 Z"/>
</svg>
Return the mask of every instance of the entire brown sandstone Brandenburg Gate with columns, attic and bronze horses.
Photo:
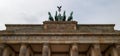
<svg viewBox="0 0 120 56">
<path fill-rule="evenodd" d="M 114 24 L 78 24 L 71 12 L 43 24 L 6 24 L 0 31 L 0 56 L 120 56 L 120 31 Z M 62 20 L 61 20 L 62 19 Z"/>
</svg>

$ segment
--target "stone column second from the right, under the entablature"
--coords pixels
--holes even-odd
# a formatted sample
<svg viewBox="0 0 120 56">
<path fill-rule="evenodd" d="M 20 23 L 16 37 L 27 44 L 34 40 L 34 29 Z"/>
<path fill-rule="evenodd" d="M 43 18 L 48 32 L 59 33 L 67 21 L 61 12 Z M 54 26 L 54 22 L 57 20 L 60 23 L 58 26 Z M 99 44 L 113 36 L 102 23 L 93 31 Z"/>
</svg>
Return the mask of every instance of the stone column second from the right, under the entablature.
<svg viewBox="0 0 120 56">
<path fill-rule="evenodd" d="M 92 45 L 91 56 L 102 56 L 99 44 Z"/>
</svg>

